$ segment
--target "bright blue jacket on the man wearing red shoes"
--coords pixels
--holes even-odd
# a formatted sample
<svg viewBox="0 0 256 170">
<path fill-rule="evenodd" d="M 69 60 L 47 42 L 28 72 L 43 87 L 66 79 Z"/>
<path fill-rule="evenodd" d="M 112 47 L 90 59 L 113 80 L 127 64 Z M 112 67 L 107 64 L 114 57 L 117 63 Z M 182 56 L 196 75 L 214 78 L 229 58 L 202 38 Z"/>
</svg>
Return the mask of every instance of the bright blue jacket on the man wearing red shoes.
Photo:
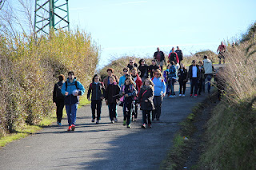
<svg viewBox="0 0 256 170">
<path fill-rule="evenodd" d="M 71 104 L 78 104 L 79 97 L 73 96 L 72 92 L 75 89 L 78 89 L 78 95 L 82 96 L 83 93 L 85 93 L 85 88 L 82 86 L 82 84 L 77 81 L 77 85 L 75 85 L 76 78 L 74 78 L 74 81 L 70 83 L 70 79 L 67 78 L 65 83 L 62 85 L 62 94 L 65 95 L 66 92 L 69 94 L 65 96 L 64 98 L 64 105 L 71 105 Z M 67 85 L 66 85 L 67 83 Z M 67 86 L 67 88 L 66 88 Z"/>
</svg>

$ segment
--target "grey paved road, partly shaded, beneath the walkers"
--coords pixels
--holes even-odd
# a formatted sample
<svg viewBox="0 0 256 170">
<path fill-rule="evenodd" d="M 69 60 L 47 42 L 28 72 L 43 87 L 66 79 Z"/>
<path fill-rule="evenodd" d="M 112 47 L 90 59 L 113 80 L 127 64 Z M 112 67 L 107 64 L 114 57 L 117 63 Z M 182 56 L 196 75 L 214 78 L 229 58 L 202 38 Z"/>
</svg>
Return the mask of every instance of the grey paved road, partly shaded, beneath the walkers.
<svg viewBox="0 0 256 170">
<path fill-rule="evenodd" d="M 178 94 L 178 85 L 175 85 Z M 100 125 L 91 123 L 90 106 L 78 110 L 77 128 L 66 132 L 52 125 L 25 139 L 0 149 L 0 169 L 158 169 L 171 147 L 178 123 L 190 114 L 201 97 L 165 98 L 160 121 L 153 128 L 141 128 L 142 113 L 132 128 L 122 125 L 122 108 L 118 106 L 118 123 L 110 124 L 107 106 L 102 106 Z"/>
</svg>

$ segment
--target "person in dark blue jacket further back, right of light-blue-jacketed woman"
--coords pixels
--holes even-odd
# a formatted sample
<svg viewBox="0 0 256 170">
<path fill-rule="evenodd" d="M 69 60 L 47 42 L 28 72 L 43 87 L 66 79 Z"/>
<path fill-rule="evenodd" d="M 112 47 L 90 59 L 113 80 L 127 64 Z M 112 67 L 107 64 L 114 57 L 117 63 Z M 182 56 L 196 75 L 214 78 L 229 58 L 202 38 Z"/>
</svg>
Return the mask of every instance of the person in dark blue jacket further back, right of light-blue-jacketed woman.
<svg viewBox="0 0 256 170">
<path fill-rule="evenodd" d="M 176 97 L 175 92 L 174 92 L 174 84 L 177 79 L 176 73 L 177 73 L 177 70 L 174 65 L 174 61 L 171 61 L 170 68 L 168 69 L 168 85 L 170 88 L 170 98 Z"/>
</svg>

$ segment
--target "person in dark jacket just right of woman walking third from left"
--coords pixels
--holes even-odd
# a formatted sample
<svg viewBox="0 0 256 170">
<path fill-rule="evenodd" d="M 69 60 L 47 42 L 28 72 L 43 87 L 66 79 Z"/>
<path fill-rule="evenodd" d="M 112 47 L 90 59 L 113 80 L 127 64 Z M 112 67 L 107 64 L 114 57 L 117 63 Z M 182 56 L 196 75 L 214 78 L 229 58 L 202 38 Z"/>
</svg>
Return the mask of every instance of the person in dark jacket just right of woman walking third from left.
<svg viewBox="0 0 256 170">
<path fill-rule="evenodd" d="M 105 101 L 109 108 L 110 121 L 112 124 L 117 122 L 117 103 L 120 92 L 120 87 L 116 82 L 114 76 L 109 77 L 110 84 L 106 88 Z"/>
</svg>

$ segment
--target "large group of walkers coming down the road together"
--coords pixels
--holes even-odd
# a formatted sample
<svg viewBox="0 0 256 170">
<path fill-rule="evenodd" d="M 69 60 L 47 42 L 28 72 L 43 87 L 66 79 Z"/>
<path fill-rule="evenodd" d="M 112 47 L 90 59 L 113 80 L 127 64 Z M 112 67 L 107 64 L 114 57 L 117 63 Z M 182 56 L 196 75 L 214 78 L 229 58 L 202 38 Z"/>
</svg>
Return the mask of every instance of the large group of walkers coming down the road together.
<svg viewBox="0 0 256 170">
<path fill-rule="evenodd" d="M 129 64 L 122 69 L 123 75 L 118 78 L 114 75 L 114 69 L 106 70 L 107 76 L 101 81 L 101 77 L 95 74 L 88 89 L 87 98 L 91 101 L 91 122 L 100 123 L 102 101 L 106 101 L 109 109 L 110 122 L 118 122 L 117 107 L 122 107 L 123 125 L 131 128 L 131 122 L 137 121 L 138 105 L 142 110 L 142 128 L 151 128 L 152 121 L 159 121 L 163 98 L 174 98 L 175 82 L 179 84 L 179 97 L 186 96 L 186 84 L 190 80 L 190 97 L 198 97 L 207 91 L 210 93 L 210 81 L 214 74 L 214 66 L 207 56 L 203 61 L 193 60 L 189 69 L 182 63 L 182 50 L 177 46 L 171 49 L 168 56 L 168 65 L 165 54 L 157 48 L 151 65 L 147 65 L 144 59 L 135 63 L 130 59 Z M 63 75 L 54 85 L 54 102 L 57 106 L 57 124 L 62 125 L 62 110 L 66 105 L 68 117 L 68 131 L 74 131 L 76 112 L 78 108 L 78 96 L 85 93 L 83 85 L 76 80 L 74 72 L 68 73 L 65 81 Z M 97 114 L 96 114 L 97 112 Z M 152 113 L 152 114 L 151 114 Z M 152 116 L 152 117 L 151 117 Z"/>
</svg>

